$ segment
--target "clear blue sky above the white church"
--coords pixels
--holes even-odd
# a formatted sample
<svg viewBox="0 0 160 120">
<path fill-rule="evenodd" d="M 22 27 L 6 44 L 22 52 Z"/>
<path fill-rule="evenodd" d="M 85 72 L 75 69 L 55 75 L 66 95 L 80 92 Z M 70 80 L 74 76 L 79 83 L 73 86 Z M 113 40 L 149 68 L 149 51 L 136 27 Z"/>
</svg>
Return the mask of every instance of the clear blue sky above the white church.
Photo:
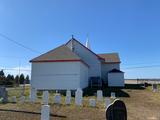
<svg viewBox="0 0 160 120">
<path fill-rule="evenodd" d="M 159 6 L 159 0 L 0 0 L 0 33 L 40 53 L 72 34 L 85 43 L 89 34 L 94 52 L 120 54 L 126 78 L 160 78 Z M 30 69 L 37 55 L 0 37 L 0 68 Z M 143 66 L 152 67 L 134 68 Z"/>
</svg>

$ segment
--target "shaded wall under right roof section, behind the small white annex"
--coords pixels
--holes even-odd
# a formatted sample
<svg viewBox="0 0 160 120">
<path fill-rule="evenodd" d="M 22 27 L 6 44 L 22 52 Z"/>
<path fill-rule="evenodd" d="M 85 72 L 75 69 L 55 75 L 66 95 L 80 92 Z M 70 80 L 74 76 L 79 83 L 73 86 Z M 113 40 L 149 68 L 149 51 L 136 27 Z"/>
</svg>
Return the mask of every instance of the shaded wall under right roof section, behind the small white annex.
<svg viewBox="0 0 160 120">
<path fill-rule="evenodd" d="M 101 71 L 102 71 L 102 79 L 105 83 L 108 81 L 108 72 L 112 69 L 118 69 L 120 70 L 120 64 L 102 64 Z"/>
</svg>

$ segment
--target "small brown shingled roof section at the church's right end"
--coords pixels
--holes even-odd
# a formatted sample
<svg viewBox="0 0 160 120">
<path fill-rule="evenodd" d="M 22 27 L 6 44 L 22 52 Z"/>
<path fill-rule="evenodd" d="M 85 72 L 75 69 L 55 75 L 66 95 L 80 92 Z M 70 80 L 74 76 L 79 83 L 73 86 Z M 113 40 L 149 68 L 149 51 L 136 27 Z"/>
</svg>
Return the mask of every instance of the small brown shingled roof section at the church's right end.
<svg viewBox="0 0 160 120">
<path fill-rule="evenodd" d="M 105 59 L 104 63 L 120 63 L 118 53 L 103 53 L 98 55 Z"/>
</svg>

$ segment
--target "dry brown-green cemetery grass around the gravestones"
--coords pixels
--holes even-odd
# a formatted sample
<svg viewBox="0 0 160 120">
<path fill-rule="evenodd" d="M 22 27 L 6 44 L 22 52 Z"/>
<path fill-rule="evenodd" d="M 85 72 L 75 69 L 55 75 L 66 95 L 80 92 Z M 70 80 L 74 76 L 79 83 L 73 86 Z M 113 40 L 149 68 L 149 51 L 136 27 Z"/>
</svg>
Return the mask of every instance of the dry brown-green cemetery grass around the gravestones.
<svg viewBox="0 0 160 120">
<path fill-rule="evenodd" d="M 160 86 L 159 86 L 160 88 Z M 104 102 L 97 103 L 96 108 L 89 107 L 89 98 L 95 98 L 92 95 L 96 90 L 86 90 L 83 106 L 78 107 L 74 104 L 66 106 L 64 96 L 62 104 L 56 105 L 53 101 L 53 93 L 50 94 L 51 120 L 105 120 Z M 118 98 L 123 100 L 127 107 L 128 120 L 160 120 L 160 92 L 152 92 L 151 86 L 146 89 L 140 86 L 130 85 L 124 89 L 104 89 L 104 96 L 109 96 L 111 91 L 115 91 Z M 21 88 L 9 88 L 9 101 L 11 96 L 17 97 L 21 94 Z M 40 120 L 41 93 L 38 101 L 29 103 L 29 87 L 26 88 L 26 102 L 0 104 L 0 120 Z"/>
</svg>

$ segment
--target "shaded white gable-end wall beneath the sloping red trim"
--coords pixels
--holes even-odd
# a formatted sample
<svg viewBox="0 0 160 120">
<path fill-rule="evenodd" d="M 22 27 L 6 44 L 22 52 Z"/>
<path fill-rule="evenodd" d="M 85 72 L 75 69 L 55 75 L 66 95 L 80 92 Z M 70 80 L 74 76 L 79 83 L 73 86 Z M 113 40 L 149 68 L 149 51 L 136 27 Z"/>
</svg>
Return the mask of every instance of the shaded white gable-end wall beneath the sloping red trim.
<svg viewBox="0 0 160 120">
<path fill-rule="evenodd" d="M 97 56 L 95 56 L 93 53 L 91 53 L 89 50 L 84 48 L 76 41 L 73 41 L 73 44 L 71 44 L 71 41 L 70 43 L 67 44 L 69 48 L 72 48 L 71 45 L 74 46 L 74 52 L 90 66 L 88 71 L 89 77 L 91 76 L 101 77 L 101 62 L 99 61 Z"/>
</svg>

